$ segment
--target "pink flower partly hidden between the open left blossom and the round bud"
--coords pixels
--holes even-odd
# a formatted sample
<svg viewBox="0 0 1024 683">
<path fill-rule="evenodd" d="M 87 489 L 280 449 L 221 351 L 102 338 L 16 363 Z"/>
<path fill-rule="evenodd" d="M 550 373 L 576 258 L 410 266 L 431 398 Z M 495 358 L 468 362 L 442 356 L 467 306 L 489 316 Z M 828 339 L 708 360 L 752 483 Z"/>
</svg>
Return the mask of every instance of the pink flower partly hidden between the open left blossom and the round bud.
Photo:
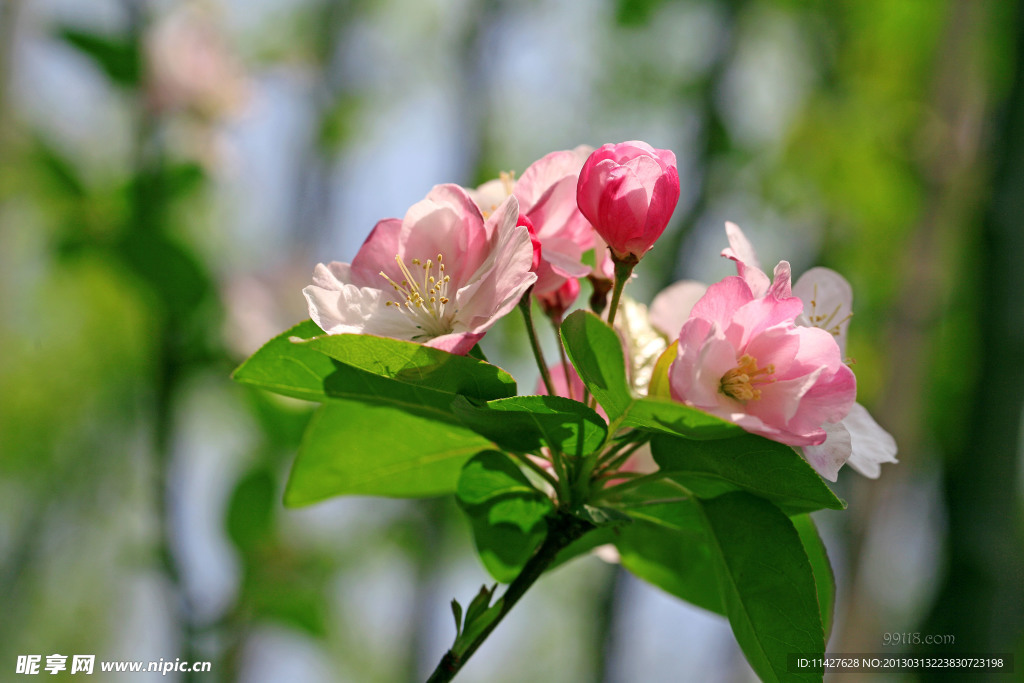
<svg viewBox="0 0 1024 683">
<path fill-rule="evenodd" d="M 575 201 L 580 168 L 590 153 L 591 148 L 583 145 L 552 152 L 530 164 L 518 180 L 502 174 L 469 191 L 484 214 L 509 195 L 519 201 L 520 215 L 529 219 L 541 243 L 534 294 L 554 292 L 567 280 L 590 272 L 583 256 L 594 247 L 594 230 Z"/>
</svg>

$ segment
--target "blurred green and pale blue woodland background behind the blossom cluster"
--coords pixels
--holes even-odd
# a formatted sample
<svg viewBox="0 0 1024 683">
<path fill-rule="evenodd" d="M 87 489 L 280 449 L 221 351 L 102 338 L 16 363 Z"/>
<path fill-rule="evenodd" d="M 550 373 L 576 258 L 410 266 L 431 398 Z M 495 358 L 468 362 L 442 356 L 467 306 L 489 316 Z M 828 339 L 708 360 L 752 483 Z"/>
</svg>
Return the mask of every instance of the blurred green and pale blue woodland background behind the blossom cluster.
<svg viewBox="0 0 1024 683">
<path fill-rule="evenodd" d="M 727 219 L 764 263 L 853 285 L 860 400 L 900 463 L 842 472 L 849 509 L 817 517 L 829 651 L 1021 675 L 1021 5 L 0 0 L 0 680 L 54 652 L 422 680 L 487 582 L 467 523 L 447 500 L 284 508 L 311 407 L 229 373 L 307 316 L 317 261 L 434 183 L 637 138 L 675 151 L 683 197 L 628 294 L 729 274 Z M 518 334 L 483 345 L 528 387 Z M 594 557 L 460 676 L 751 678 L 724 620 Z"/>
</svg>

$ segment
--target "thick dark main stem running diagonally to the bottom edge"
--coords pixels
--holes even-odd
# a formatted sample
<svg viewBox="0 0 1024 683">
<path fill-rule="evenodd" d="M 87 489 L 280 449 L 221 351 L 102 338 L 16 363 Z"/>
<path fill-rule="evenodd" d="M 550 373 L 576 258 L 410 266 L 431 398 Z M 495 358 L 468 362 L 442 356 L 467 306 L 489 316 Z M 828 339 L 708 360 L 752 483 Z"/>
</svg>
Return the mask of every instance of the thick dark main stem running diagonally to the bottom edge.
<svg viewBox="0 0 1024 683">
<path fill-rule="evenodd" d="M 506 614 L 512 611 L 512 607 L 519 601 L 519 598 L 526 593 L 529 587 L 551 565 L 555 557 L 558 556 L 558 553 L 584 533 L 594 528 L 593 524 L 564 512 L 555 513 L 554 516 L 548 517 L 547 521 L 548 536 L 544 540 L 544 544 L 529 558 L 529 561 L 523 566 L 519 575 L 509 584 L 505 595 L 495 603 L 496 606 L 499 606 L 498 615 L 467 646 L 460 648 L 461 652 L 456 651 L 456 647 L 459 644 L 457 639 L 456 645 L 444 653 L 444 656 L 437 664 L 437 668 L 434 669 L 434 673 L 427 679 L 427 683 L 444 683 L 454 679 L 463 665 L 473 655 L 473 652 L 487 639 L 490 632 L 501 624 Z"/>
</svg>

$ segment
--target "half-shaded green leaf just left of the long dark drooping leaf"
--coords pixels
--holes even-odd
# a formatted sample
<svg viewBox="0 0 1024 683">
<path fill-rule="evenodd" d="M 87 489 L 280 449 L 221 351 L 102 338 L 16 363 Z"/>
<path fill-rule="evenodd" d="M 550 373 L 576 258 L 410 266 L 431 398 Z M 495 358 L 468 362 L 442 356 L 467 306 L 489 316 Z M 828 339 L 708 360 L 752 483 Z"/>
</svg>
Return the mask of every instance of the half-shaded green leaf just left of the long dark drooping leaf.
<svg viewBox="0 0 1024 683">
<path fill-rule="evenodd" d="M 626 508 L 633 523 L 620 528 L 615 539 L 623 566 L 667 593 L 724 614 L 714 551 L 698 503 L 676 498 Z"/>
</svg>

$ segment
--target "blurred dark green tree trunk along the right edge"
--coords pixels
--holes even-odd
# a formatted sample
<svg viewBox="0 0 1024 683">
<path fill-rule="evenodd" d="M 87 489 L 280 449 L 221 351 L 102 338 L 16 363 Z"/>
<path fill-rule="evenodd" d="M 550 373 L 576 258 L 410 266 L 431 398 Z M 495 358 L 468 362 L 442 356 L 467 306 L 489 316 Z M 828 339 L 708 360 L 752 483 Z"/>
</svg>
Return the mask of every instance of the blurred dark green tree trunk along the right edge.
<svg viewBox="0 0 1024 683">
<path fill-rule="evenodd" d="M 992 182 L 980 226 L 977 278 L 979 373 L 966 445 L 946 465 L 948 566 L 923 634 L 953 634 L 955 649 L 1005 653 L 1024 634 L 1020 501 L 1024 411 L 1024 3 L 1014 16 L 1013 84 L 990 139 Z M 941 369 L 936 369 L 941 372 Z M 934 652 L 934 648 L 933 648 Z M 929 670 L 927 680 L 961 674 Z"/>
</svg>

